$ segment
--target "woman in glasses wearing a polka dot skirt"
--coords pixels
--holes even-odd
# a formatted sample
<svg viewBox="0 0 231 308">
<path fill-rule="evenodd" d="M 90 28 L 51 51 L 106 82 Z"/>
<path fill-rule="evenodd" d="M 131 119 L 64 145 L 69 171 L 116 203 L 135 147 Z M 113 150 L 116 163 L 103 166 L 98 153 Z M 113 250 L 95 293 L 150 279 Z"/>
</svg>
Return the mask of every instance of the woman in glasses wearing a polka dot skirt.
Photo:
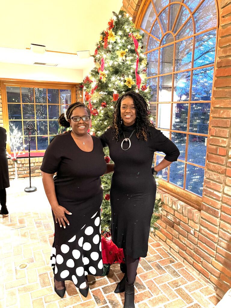
<svg viewBox="0 0 231 308">
<path fill-rule="evenodd" d="M 87 297 L 87 275 L 103 273 L 100 176 L 106 162 L 100 140 L 87 133 L 90 118 L 84 104 L 71 104 L 59 124 L 72 130 L 52 140 L 41 166 L 55 223 L 51 265 L 60 297 L 65 294 L 65 280 L 72 280 Z"/>
</svg>

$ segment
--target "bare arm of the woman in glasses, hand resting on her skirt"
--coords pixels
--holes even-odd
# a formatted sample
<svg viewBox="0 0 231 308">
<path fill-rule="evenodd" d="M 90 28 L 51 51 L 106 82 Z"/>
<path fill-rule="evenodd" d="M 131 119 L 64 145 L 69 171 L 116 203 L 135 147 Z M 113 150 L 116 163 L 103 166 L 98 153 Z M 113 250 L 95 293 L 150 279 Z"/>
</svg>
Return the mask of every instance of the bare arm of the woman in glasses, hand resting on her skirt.
<svg viewBox="0 0 231 308">
<path fill-rule="evenodd" d="M 51 205 L 51 209 L 55 215 L 55 221 L 59 222 L 60 227 L 66 228 L 66 224 L 69 225 L 69 221 L 67 220 L 67 217 L 65 216 L 65 213 L 68 215 L 71 215 L 71 213 L 65 209 L 63 206 L 58 204 L 56 195 L 55 195 L 55 183 L 53 180 L 54 174 L 49 174 L 46 172 L 41 171 L 42 178 L 43 178 L 43 187 L 47 196 L 47 199 Z"/>
</svg>

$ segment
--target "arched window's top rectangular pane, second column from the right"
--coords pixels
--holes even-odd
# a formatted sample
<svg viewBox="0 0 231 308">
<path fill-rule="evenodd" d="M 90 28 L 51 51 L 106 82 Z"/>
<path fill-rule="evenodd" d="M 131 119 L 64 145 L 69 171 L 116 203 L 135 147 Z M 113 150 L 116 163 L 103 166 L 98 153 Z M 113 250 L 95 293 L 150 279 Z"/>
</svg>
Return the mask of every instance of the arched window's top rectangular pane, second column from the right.
<svg viewBox="0 0 231 308">
<path fill-rule="evenodd" d="M 192 67 L 193 38 L 176 43 L 176 69 L 183 71 Z"/>
</svg>

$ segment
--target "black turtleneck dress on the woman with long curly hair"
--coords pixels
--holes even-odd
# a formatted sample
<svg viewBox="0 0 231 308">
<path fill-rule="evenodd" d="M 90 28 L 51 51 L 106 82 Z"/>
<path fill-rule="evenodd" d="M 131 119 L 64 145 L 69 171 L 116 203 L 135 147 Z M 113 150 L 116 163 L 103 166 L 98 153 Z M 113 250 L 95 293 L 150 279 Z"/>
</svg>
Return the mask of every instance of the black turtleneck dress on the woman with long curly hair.
<svg viewBox="0 0 231 308">
<path fill-rule="evenodd" d="M 125 137 L 129 137 L 135 124 L 122 126 Z M 104 147 L 109 147 L 110 157 L 114 161 L 114 173 L 111 180 L 111 236 L 126 255 L 133 258 L 146 257 L 151 217 L 156 198 L 156 181 L 152 175 L 154 152 L 164 152 L 165 160 L 176 161 L 180 152 L 176 145 L 165 137 L 160 130 L 150 127 L 148 140 L 139 140 L 136 130 L 132 134 L 131 147 L 124 151 L 121 142 L 113 140 L 109 128 L 100 137 Z M 123 148 L 128 148 L 124 142 Z"/>
</svg>

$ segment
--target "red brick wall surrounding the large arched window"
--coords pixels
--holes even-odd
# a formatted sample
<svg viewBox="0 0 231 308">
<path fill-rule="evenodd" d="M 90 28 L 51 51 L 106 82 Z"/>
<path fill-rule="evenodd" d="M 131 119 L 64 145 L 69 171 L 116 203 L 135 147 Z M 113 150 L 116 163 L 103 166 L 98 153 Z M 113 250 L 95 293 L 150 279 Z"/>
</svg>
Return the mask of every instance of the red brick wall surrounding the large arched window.
<svg viewBox="0 0 231 308">
<path fill-rule="evenodd" d="M 139 5 L 137 0 L 123 1 L 123 9 L 133 20 Z M 218 6 L 220 24 L 202 210 L 159 189 L 164 204 L 155 236 L 223 296 L 231 287 L 231 0 L 219 1 Z"/>
</svg>

